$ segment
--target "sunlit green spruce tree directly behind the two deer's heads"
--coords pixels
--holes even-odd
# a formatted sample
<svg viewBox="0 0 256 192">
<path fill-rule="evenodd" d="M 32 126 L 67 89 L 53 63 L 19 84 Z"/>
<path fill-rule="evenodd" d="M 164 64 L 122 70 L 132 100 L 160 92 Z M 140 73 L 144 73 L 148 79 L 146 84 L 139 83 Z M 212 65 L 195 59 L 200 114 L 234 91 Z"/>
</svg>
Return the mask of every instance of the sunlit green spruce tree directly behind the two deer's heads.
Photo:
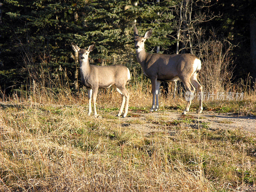
<svg viewBox="0 0 256 192">
<path fill-rule="evenodd" d="M 136 4 L 137 3 L 137 4 Z M 91 53 L 101 65 L 121 63 L 128 68 L 141 70 L 134 56 L 133 27 L 138 25 L 141 34 L 153 28 L 153 36 L 148 41 L 147 51 L 154 52 L 156 45 L 168 52 L 173 41 L 167 36 L 172 33 L 170 6 L 174 2 L 162 1 L 93 1 L 84 7 L 84 33 L 77 34 L 82 47 L 96 43 L 97 52 Z M 157 15 L 157 12 L 159 14 Z M 134 22 L 136 20 L 136 23 Z"/>
</svg>

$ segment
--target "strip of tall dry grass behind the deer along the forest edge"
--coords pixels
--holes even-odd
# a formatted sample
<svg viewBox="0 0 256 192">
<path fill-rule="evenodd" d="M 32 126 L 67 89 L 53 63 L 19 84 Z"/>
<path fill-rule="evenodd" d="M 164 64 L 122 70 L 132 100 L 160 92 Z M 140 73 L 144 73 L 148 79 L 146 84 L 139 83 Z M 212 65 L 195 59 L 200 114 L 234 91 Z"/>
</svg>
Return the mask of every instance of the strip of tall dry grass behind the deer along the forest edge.
<svg viewBox="0 0 256 192">
<path fill-rule="evenodd" d="M 214 63 L 212 63 L 212 65 L 214 65 Z M 204 72 L 204 69 L 202 69 L 202 72 L 200 72 L 201 76 L 204 76 Z M 13 94 L 9 95 L 8 97 L 4 94 L 4 92 L 1 92 L 2 101 L 12 100 L 12 102 L 15 101 L 16 103 L 31 102 L 34 104 L 51 105 L 87 105 L 88 99 L 86 89 L 80 84 L 79 90 L 77 92 L 74 92 L 71 88 L 73 85 L 70 84 L 70 81 L 65 75 L 63 69 L 61 69 L 60 74 L 58 75 L 58 77 L 56 77 L 54 81 L 51 79 L 51 76 L 49 76 L 49 73 L 45 72 L 43 69 L 40 69 L 38 73 L 39 75 L 37 80 L 32 79 L 31 85 L 27 84 L 25 89 L 23 86 L 23 89 L 14 90 Z M 209 73 L 209 71 L 206 73 Z M 221 72 L 221 74 L 222 73 L 225 74 L 226 72 Z M 224 76 L 220 77 L 224 78 Z M 217 78 L 217 76 L 215 76 L 214 78 Z M 200 80 L 202 82 L 205 79 Z M 236 112 L 240 114 L 256 113 L 256 94 L 254 91 L 256 84 L 252 83 L 252 77 L 248 76 L 245 81 L 240 80 L 236 84 L 231 84 L 229 81 L 229 83 L 226 83 L 225 86 L 223 82 L 222 84 L 218 84 L 218 86 L 216 84 L 215 87 L 214 84 L 205 86 L 203 87 L 204 110 L 215 110 L 218 112 Z M 127 85 L 127 88 L 130 92 L 130 106 L 150 108 L 152 102 L 152 94 L 151 82 L 148 78 L 141 74 L 138 74 L 136 70 L 133 70 L 132 78 Z M 180 94 L 178 94 L 176 98 L 173 98 L 173 90 L 174 84 L 169 83 L 169 93 L 166 96 L 160 96 L 160 104 L 162 105 L 162 107 L 180 106 L 180 108 L 184 108 L 186 101 L 183 98 L 182 91 L 180 91 Z M 218 100 L 218 92 L 223 92 L 225 95 L 228 95 L 229 93 L 243 94 L 243 97 L 237 99 L 233 97 L 232 100 Z M 208 98 L 208 94 L 212 93 L 214 94 L 214 97 Z M 197 92 L 195 92 L 195 95 L 196 94 Z M 104 107 L 107 103 L 107 105 L 119 107 L 120 102 L 121 97 L 114 89 L 109 88 L 99 90 L 97 105 Z M 198 101 L 195 97 L 195 99 L 192 101 L 192 110 L 194 108 L 197 108 L 197 106 Z M 229 109 L 224 110 L 223 108 Z"/>
</svg>

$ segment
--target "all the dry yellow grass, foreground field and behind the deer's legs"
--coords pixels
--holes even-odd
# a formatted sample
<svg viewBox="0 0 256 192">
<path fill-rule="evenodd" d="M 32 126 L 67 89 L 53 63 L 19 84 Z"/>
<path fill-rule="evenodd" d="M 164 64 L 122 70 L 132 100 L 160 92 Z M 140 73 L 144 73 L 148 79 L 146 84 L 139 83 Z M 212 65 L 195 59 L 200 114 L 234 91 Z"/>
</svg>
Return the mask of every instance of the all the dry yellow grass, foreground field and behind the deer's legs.
<svg viewBox="0 0 256 192">
<path fill-rule="evenodd" d="M 150 108 L 148 87 L 129 87 L 130 108 Z M 162 111 L 185 105 L 181 98 L 160 99 Z M 252 96 L 245 100 L 255 102 Z M 255 184 L 255 134 L 195 129 L 184 121 L 169 127 L 173 135 L 166 130 L 145 137 L 133 129 L 143 122 L 129 121 L 131 126 L 123 127 L 126 120 L 114 117 L 120 102 L 111 89 L 101 91 L 97 104 L 105 110 L 99 111 L 102 118 L 89 117 L 81 90 L 77 96 L 67 90 L 54 95 L 36 84 L 27 98 L 3 102 L 0 190 L 199 192 Z M 208 102 L 204 108 L 220 104 Z M 255 106 L 244 108 L 255 112 Z M 164 115 L 149 118 L 167 120 Z"/>
</svg>

